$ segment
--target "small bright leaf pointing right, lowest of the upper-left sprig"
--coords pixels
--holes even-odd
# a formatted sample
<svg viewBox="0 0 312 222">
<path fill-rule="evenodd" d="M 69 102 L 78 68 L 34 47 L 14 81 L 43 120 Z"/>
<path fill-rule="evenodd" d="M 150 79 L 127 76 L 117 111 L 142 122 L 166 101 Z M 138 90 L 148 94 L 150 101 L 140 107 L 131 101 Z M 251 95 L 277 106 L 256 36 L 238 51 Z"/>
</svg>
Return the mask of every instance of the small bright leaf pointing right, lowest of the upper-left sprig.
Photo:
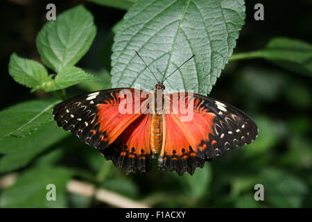
<svg viewBox="0 0 312 222">
<path fill-rule="evenodd" d="M 89 80 L 98 80 L 98 78 L 92 74 L 87 74 L 83 69 L 78 67 L 64 67 L 64 69 L 55 76 L 53 85 L 46 87 L 44 90 L 46 92 L 51 92 Z"/>
</svg>

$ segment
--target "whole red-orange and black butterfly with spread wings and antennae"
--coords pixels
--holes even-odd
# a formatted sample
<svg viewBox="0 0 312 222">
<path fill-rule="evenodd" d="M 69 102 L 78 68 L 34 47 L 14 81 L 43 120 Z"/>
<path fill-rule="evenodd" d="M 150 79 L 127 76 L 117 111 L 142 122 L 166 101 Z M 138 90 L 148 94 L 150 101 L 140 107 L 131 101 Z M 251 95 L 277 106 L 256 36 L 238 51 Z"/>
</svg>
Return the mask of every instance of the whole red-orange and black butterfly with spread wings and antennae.
<svg viewBox="0 0 312 222">
<path fill-rule="evenodd" d="M 163 83 L 157 81 L 154 92 L 115 88 L 76 96 L 56 105 L 53 116 L 126 174 L 150 171 L 159 155 L 159 169 L 193 175 L 257 137 L 256 123 L 238 108 L 200 94 L 164 94 Z"/>
</svg>

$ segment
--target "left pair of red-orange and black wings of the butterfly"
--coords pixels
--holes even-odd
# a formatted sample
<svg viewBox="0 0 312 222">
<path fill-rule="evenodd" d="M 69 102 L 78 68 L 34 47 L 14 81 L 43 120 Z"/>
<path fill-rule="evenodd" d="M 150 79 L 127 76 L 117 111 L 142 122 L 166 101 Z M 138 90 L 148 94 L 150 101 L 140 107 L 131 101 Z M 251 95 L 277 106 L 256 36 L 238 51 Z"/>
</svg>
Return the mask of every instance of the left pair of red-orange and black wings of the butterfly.
<svg viewBox="0 0 312 222">
<path fill-rule="evenodd" d="M 152 96 L 138 89 L 107 89 L 74 97 L 55 106 L 53 115 L 81 142 L 98 148 L 127 173 L 150 169 Z"/>
</svg>

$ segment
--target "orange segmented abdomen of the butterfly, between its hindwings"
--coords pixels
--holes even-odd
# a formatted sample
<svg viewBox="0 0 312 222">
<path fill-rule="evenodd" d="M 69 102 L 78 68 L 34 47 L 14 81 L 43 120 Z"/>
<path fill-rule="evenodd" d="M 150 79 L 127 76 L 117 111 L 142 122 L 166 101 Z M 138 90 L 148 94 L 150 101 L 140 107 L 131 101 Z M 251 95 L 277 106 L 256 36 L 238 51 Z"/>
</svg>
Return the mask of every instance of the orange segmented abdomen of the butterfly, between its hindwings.
<svg viewBox="0 0 312 222">
<path fill-rule="evenodd" d="M 162 114 L 153 114 L 150 131 L 150 146 L 156 154 L 162 148 Z"/>
</svg>

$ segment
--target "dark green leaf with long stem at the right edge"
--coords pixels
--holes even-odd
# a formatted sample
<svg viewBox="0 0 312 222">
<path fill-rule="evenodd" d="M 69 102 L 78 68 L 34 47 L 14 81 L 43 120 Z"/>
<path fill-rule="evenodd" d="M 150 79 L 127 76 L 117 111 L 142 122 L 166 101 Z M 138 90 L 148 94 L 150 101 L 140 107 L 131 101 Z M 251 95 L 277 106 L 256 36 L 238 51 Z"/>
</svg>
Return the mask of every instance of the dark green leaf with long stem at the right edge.
<svg viewBox="0 0 312 222">
<path fill-rule="evenodd" d="M 234 54 L 231 60 L 265 58 L 279 67 L 298 74 L 312 75 L 312 45 L 301 40 L 276 37 L 265 49 Z"/>
</svg>

